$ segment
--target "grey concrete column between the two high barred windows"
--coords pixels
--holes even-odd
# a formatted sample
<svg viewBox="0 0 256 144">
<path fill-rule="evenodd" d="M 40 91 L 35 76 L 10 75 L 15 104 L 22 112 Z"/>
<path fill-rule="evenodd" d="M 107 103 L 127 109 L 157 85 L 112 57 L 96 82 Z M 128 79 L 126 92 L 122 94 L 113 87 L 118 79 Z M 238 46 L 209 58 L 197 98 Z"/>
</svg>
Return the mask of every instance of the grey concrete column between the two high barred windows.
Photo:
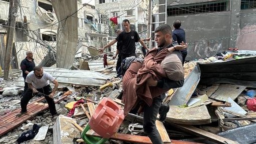
<svg viewBox="0 0 256 144">
<path fill-rule="evenodd" d="M 230 36 L 232 37 L 229 40 L 229 47 L 236 47 L 237 36 L 235 35 L 240 31 L 241 0 L 231 0 L 230 11 Z"/>
</svg>

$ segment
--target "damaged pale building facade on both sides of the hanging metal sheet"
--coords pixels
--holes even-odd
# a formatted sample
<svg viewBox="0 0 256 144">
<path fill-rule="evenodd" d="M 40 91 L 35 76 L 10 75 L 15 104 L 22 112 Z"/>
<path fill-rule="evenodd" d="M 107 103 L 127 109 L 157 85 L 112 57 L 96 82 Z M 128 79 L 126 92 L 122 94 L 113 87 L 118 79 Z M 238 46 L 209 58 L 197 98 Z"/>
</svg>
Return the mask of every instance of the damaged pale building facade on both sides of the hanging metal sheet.
<svg viewBox="0 0 256 144">
<path fill-rule="evenodd" d="M 9 0 L 0 0 L 0 64 L 4 68 L 4 54 L 8 28 Z M 97 21 L 97 11 L 93 5 L 83 5 L 78 1 L 78 43 L 82 43 L 80 51 L 88 53 L 87 47 L 100 47 L 107 43 L 108 31 L 100 27 Z M 58 20 L 50 0 L 20 0 L 16 13 L 16 26 L 11 69 L 19 68 L 26 57 L 26 51 L 34 53 L 36 65 L 47 54 L 56 55 L 58 36 Z M 96 20 L 95 20 L 96 18 Z M 76 34 L 75 34 L 76 35 Z M 102 40 L 102 44 L 97 43 Z M 53 63 L 54 64 L 54 63 Z"/>
</svg>

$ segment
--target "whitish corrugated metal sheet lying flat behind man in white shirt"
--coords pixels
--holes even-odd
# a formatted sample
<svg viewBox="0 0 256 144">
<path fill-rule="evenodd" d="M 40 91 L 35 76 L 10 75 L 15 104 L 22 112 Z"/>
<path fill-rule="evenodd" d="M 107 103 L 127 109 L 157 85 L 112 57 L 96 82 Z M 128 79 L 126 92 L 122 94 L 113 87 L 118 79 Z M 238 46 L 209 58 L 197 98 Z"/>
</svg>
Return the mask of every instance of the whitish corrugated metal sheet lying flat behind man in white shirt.
<svg viewBox="0 0 256 144">
<path fill-rule="evenodd" d="M 44 67 L 60 84 L 76 84 L 84 86 L 101 86 L 111 77 L 90 70 L 67 70 L 61 68 Z M 19 77 L 16 86 L 24 86 L 24 79 Z"/>
</svg>

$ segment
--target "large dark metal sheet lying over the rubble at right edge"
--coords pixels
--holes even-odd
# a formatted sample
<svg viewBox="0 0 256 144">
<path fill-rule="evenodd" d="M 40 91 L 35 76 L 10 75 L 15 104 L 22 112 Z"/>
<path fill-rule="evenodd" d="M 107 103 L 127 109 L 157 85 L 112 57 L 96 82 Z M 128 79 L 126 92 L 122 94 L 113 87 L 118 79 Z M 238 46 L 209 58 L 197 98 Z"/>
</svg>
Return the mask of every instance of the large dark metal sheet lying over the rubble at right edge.
<svg viewBox="0 0 256 144">
<path fill-rule="evenodd" d="M 256 57 L 220 63 L 199 63 L 202 85 L 230 83 L 256 87 Z"/>
</svg>

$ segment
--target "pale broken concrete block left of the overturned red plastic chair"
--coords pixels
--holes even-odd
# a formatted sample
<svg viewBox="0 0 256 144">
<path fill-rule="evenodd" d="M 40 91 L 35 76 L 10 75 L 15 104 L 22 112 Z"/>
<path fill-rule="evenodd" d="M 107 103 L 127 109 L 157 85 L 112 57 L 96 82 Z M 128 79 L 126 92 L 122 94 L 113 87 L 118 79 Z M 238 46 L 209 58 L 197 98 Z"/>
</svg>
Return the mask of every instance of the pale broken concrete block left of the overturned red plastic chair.
<svg viewBox="0 0 256 144">
<path fill-rule="evenodd" d="M 72 124 L 73 118 L 60 115 L 53 125 L 53 144 L 73 144 L 75 137 L 80 137 L 80 132 Z"/>
</svg>

